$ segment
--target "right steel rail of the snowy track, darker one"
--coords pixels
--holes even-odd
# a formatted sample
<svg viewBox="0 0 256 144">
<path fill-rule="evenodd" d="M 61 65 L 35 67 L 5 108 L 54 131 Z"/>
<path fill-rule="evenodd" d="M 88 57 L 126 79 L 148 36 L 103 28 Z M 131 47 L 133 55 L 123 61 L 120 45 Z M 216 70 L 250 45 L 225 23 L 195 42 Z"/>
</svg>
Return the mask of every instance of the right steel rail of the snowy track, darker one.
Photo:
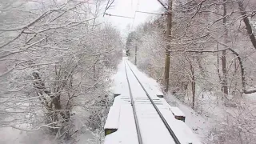
<svg viewBox="0 0 256 144">
<path fill-rule="evenodd" d="M 129 68 L 130 68 L 130 65 L 128 64 L 128 62 L 126 62 L 126 63 L 127 63 L 127 65 L 129 66 Z M 134 70 L 132 70 L 131 68 L 130 68 L 130 70 L 131 70 L 131 72 L 134 74 Z M 126 74 L 127 74 L 127 72 L 126 72 Z M 170 128 L 168 122 L 166 122 L 166 119 L 165 119 L 165 118 L 163 117 L 163 115 L 161 114 L 160 110 L 158 109 L 158 106 L 156 106 L 155 103 L 154 103 L 154 101 L 153 101 L 153 99 L 150 98 L 150 94 L 148 94 L 148 92 L 146 91 L 145 87 L 142 85 L 142 82 L 140 82 L 140 81 L 138 80 L 138 77 L 136 76 L 136 74 L 134 74 L 134 76 L 135 76 L 135 78 L 137 79 L 138 83 L 142 86 L 142 89 L 143 89 L 144 92 L 146 93 L 146 96 L 150 99 L 150 102 L 151 102 L 152 105 L 154 106 L 154 109 L 158 112 L 159 117 L 162 119 L 162 122 L 165 124 L 165 126 L 166 126 L 167 130 L 169 131 L 171 137 L 174 138 L 174 142 L 175 142 L 176 144 L 181 144 L 181 142 L 179 142 L 177 136 L 174 134 L 174 131 L 171 130 L 171 128 Z M 128 77 L 127 77 L 127 78 L 128 78 Z"/>
</svg>

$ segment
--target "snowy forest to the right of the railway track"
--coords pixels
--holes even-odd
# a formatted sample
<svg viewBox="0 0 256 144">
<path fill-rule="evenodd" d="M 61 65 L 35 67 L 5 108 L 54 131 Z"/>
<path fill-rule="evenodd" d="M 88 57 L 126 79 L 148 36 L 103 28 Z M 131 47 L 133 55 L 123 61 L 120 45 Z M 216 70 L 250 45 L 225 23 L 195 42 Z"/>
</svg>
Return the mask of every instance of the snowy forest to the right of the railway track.
<svg viewBox="0 0 256 144">
<path fill-rule="evenodd" d="M 206 143 L 255 141 L 255 10 L 253 0 L 168 1 L 128 35 L 130 61 L 213 123 Z"/>
</svg>

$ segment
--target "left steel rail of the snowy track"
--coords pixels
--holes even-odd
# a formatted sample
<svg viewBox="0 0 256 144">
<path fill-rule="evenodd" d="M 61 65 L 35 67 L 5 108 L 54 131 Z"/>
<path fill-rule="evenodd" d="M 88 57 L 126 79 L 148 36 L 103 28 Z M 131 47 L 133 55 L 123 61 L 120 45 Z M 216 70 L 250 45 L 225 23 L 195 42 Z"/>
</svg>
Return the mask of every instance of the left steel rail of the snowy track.
<svg viewBox="0 0 256 144">
<path fill-rule="evenodd" d="M 126 69 L 126 63 L 124 63 L 124 64 L 125 64 L 125 69 Z M 137 117 L 136 109 L 135 109 L 135 105 L 134 105 L 133 94 L 132 94 L 131 89 L 130 89 L 130 82 L 129 82 L 129 79 L 128 79 L 127 70 L 126 70 L 126 79 L 127 79 L 128 87 L 129 87 L 130 102 L 131 102 L 131 106 L 132 106 L 133 112 L 134 112 L 134 120 L 135 120 L 137 135 L 138 135 L 138 143 L 139 143 L 139 144 L 142 144 L 142 134 L 141 134 L 141 131 L 140 131 L 139 125 L 138 125 L 138 117 Z"/>
</svg>

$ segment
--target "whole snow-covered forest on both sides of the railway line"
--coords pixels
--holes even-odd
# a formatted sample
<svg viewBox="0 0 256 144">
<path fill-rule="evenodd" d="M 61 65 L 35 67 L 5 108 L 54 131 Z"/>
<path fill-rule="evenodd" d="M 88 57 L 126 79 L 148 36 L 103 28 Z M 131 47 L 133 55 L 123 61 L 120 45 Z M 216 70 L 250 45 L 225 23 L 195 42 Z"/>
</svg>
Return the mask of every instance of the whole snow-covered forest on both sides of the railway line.
<svg viewBox="0 0 256 144">
<path fill-rule="evenodd" d="M 206 120 L 203 143 L 256 141 L 256 1 L 158 1 L 126 42 L 114 2 L 0 0 L 0 143 L 103 143 L 122 49 Z"/>
</svg>

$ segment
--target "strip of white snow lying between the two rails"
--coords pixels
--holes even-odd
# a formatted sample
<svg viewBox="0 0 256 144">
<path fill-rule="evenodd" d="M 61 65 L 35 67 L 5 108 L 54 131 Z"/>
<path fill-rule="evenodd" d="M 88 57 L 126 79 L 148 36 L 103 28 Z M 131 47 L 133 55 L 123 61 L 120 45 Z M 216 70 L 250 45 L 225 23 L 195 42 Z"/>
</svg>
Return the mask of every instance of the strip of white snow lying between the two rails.
<svg viewBox="0 0 256 144">
<path fill-rule="evenodd" d="M 125 61 L 126 63 L 127 61 Z M 130 64 L 131 65 L 131 64 Z M 154 143 L 175 143 L 174 139 L 169 134 L 166 126 L 159 117 L 154 106 L 151 104 L 146 93 L 140 86 L 138 80 L 134 77 L 134 74 L 126 64 L 126 70 L 128 79 L 130 81 L 130 89 L 132 96 L 134 97 L 134 104 L 138 116 L 138 124 L 142 134 L 143 143 L 154 144 Z M 150 95 L 155 103 L 162 105 L 160 99 L 156 95 Z M 157 134 L 154 132 L 158 132 Z"/>
</svg>

